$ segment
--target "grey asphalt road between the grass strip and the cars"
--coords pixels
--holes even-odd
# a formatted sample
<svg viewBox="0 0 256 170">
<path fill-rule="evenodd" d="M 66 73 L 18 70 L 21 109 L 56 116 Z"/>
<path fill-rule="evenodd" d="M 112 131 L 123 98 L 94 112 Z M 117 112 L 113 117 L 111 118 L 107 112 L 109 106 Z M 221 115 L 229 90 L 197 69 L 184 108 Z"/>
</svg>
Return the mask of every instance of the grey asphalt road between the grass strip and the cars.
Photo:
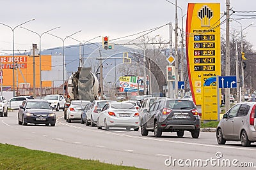
<svg viewBox="0 0 256 170">
<path fill-rule="evenodd" d="M 201 166 L 207 169 L 256 169 L 256 143 L 248 148 L 232 141 L 218 145 L 215 132 L 201 132 L 198 139 L 193 139 L 189 132 L 185 132 L 183 138 L 178 138 L 174 132 L 164 132 L 163 138 L 154 138 L 153 132 L 141 136 L 140 131 L 104 131 L 80 122 L 68 124 L 62 117 L 63 111 L 56 114 L 55 127 L 22 126 L 17 123 L 17 111 L 10 111 L 8 117 L 0 118 L 0 143 L 145 169 L 198 169 L 197 162 L 200 169 Z M 167 161 L 170 158 L 172 164 L 166 166 L 170 164 Z M 224 160 L 230 162 L 230 167 L 225 166 L 227 162 Z M 225 164 L 221 166 L 221 162 Z M 241 167 L 251 166 L 248 162 L 254 167 Z"/>
</svg>

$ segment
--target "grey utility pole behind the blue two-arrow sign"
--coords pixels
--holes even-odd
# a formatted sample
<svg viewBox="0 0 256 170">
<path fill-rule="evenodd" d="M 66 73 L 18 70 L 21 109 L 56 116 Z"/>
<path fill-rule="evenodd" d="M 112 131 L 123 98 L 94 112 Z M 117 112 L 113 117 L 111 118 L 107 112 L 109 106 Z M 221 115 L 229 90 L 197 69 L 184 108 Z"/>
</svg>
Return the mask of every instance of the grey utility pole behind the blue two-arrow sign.
<svg viewBox="0 0 256 170">
<path fill-rule="evenodd" d="M 230 0 L 226 0 L 226 62 L 225 62 L 225 75 L 230 76 L 230 43 L 229 43 L 229 8 Z M 230 89 L 225 89 L 225 111 L 230 108 Z"/>
</svg>

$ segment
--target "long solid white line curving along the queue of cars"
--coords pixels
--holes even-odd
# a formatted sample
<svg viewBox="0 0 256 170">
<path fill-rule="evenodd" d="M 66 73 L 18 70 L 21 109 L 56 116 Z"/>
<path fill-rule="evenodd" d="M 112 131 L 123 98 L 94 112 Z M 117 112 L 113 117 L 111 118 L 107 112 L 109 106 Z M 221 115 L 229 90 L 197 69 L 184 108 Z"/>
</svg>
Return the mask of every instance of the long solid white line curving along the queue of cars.
<svg viewBox="0 0 256 170">
<path fill-rule="evenodd" d="M 61 117 L 62 118 L 62 117 Z M 59 120 L 60 118 L 58 118 Z M 56 122 L 58 122 L 58 120 L 56 120 Z M 66 125 L 69 127 L 76 127 L 74 125 L 68 125 L 68 124 L 63 124 L 61 122 L 58 122 L 58 124 L 61 125 Z M 127 138 L 137 138 L 137 139 L 145 139 L 145 140 L 153 140 L 153 141 L 162 141 L 162 142 L 166 142 L 166 143 L 178 143 L 178 144 L 185 144 L 185 145 L 196 145 L 196 146 L 205 146 L 205 147 L 212 147 L 212 148 L 226 148 L 226 149 L 232 149 L 232 150 L 250 150 L 250 151 L 256 151 L 256 149 L 252 149 L 252 148 L 238 148 L 238 147 L 234 147 L 234 146 L 221 146 L 221 145 L 209 145 L 209 144 L 203 144 L 203 143 L 191 143 L 191 142 L 182 142 L 182 141 L 172 141 L 172 140 L 166 140 L 166 139 L 157 139 L 157 138 L 145 138 L 143 136 L 131 136 L 128 134 L 118 134 L 118 133 L 113 133 L 113 132 L 109 132 L 109 131 L 99 131 L 97 129 L 85 129 L 83 127 L 81 127 L 80 129 L 83 129 L 84 131 L 92 131 L 92 132 L 104 132 L 106 134 L 112 134 L 115 136 L 125 136 Z"/>
</svg>

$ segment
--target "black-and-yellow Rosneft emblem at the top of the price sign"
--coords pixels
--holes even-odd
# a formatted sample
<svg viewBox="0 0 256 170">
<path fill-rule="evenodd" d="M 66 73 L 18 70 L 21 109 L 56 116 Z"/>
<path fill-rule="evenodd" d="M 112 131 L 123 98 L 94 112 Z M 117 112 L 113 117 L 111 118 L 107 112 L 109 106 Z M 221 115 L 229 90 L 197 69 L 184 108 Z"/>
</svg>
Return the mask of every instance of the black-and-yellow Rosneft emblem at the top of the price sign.
<svg viewBox="0 0 256 170">
<path fill-rule="evenodd" d="M 202 27 L 210 27 L 210 20 L 212 15 L 212 10 L 206 5 L 198 11 L 198 18 L 201 20 Z"/>
</svg>

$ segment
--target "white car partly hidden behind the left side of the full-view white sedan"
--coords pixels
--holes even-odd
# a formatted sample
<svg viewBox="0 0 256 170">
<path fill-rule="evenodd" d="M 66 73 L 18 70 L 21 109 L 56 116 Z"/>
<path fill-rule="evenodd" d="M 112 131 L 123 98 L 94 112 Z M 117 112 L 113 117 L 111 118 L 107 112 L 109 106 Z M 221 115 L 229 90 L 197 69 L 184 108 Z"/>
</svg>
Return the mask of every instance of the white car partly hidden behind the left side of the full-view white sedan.
<svg viewBox="0 0 256 170">
<path fill-rule="evenodd" d="M 95 100 L 92 102 L 90 109 L 86 112 L 86 121 L 85 125 L 95 126 L 97 124 L 97 119 L 99 117 L 99 112 L 102 108 L 111 101 L 105 100 Z"/>
</svg>

